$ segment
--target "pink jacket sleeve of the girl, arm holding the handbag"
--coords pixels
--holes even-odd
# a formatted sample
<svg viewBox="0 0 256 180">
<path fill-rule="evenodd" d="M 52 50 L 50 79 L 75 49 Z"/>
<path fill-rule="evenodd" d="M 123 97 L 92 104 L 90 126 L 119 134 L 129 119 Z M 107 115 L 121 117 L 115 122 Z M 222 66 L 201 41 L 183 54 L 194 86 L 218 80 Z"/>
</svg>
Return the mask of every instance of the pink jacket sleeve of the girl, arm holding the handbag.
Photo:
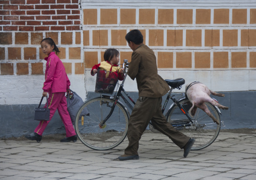
<svg viewBox="0 0 256 180">
<path fill-rule="evenodd" d="M 53 82 L 53 76 L 54 76 L 54 73 L 56 70 L 56 65 L 57 65 L 57 60 L 54 57 L 49 58 L 48 61 L 49 61 L 49 63 L 47 62 L 48 70 L 46 72 L 45 81 L 43 83 L 43 91 L 44 92 L 49 92 L 51 89 L 51 85 Z"/>
</svg>

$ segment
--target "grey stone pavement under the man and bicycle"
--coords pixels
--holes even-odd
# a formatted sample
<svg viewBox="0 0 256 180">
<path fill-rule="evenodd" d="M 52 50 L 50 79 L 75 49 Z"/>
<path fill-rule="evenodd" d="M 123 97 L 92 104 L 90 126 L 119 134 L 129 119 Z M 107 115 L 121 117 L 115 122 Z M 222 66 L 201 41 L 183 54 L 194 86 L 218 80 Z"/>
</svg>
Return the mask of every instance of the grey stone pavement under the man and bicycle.
<svg viewBox="0 0 256 180">
<path fill-rule="evenodd" d="M 44 138 L 0 140 L 0 179 L 256 179 L 256 133 L 220 132 L 209 147 L 186 158 L 167 137 L 147 131 L 138 160 L 119 161 L 127 139 L 114 149 Z"/>
</svg>

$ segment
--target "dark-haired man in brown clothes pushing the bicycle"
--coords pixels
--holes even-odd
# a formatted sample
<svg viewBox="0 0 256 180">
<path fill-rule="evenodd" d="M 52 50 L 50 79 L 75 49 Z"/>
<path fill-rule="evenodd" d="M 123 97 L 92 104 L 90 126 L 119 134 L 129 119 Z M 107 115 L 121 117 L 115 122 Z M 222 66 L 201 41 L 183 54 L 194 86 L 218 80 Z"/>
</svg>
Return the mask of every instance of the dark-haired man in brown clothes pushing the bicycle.
<svg viewBox="0 0 256 180">
<path fill-rule="evenodd" d="M 124 150 L 124 154 L 118 157 L 119 160 L 139 159 L 139 140 L 150 121 L 157 130 L 184 149 L 183 156 L 186 157 L 195 139 L 175 130 L 162 113 L 162 96 L 169 91 L 169 86 L 157 74 L 154 52 L 143 44 L 143 36 L 139 30 L 127 33 L 125 40 L 134 51 L 127 74 L 133 80 L 136 78 L 139 99 L 129 119 L 127 132 L 129 145 Z"/>
</svg>

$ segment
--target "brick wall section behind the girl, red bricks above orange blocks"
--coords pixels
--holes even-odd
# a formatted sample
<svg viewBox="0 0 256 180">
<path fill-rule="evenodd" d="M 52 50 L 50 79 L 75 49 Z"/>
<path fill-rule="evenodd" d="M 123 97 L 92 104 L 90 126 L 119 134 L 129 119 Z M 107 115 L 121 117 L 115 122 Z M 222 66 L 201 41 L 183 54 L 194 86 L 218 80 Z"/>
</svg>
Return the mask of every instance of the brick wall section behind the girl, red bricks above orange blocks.
<svg viewBox="0 0 256 180">
<path fill-rule="evenodd" d="M 60 49 L 67 73 L 72 62 L 81 65 L 81 15 L 78 0 L 0 1 L 1 75 L 43 74 L 43 38 L 51 37 Z M 83 74 L 76 61 L 74 74 Z M 79 67 L 79 68 L 78 68 Z"/>
</svg>

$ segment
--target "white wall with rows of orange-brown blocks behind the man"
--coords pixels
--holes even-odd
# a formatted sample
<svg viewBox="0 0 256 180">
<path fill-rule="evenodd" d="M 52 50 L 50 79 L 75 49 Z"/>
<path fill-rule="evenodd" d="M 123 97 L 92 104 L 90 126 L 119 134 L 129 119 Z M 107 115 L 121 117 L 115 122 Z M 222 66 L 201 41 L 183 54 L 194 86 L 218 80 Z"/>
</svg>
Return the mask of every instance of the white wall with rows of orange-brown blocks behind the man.
<svg viewBox="0 0 256 180">
<path fill-rule="evenodd" d="M 201 81 L 215 91 L 256 90 L 256 2 L 97 2 L 82 1 L 86 76 L 108 47 L 131 60 L 124 36 L 139 29 L 163 78 Z"/>
</svg>

